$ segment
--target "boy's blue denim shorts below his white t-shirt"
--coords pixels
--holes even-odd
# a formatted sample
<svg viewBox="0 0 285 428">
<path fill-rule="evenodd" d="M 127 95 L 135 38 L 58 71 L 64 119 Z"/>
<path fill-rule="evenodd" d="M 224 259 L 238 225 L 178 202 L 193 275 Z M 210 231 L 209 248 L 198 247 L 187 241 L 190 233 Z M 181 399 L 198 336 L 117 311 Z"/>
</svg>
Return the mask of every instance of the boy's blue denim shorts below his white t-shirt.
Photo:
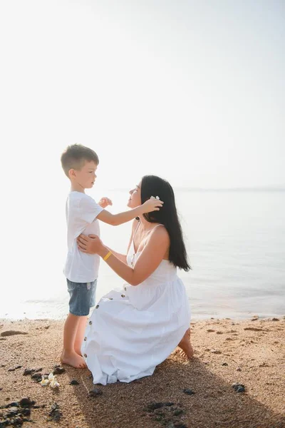
<svg viewBox="0 0 285 428">
<path fill-rule="evenodd" d="M 89 315 L 90 307 L 95 305 L 97 280 L 93 282 L 72 282 L 66 278 L 70 295 L 69 312 L 78 317 Z"/>
</svg>

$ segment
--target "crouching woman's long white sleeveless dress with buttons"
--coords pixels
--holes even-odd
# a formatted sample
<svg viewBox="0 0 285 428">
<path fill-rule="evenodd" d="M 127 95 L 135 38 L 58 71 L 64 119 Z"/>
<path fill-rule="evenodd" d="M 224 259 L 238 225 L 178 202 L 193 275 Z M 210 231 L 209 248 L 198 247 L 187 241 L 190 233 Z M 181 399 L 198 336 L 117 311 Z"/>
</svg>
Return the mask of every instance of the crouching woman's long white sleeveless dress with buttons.
<svg viewBox="0 0 285 428">
<path fill-rule="evenodd" d="M 135 265 L 133 241 L 127 255 Z M 93 310 L 81 352 L 94 384 L 132 382 L 150 376 L 190 326 L 190 307 L 177 269 L 162 260 L 139 285 L 111 290 Z"/>
</svg>

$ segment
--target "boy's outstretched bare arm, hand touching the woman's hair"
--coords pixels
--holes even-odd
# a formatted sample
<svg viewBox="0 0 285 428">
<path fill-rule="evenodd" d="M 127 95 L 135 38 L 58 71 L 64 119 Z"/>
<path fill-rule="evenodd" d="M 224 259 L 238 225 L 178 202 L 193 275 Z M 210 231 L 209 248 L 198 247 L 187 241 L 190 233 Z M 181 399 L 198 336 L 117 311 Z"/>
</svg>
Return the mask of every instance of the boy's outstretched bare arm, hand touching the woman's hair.
<svg viewBox="0 0 285 428">
<path fill-rule="evenodd" d="M 144 213 L 151 213 L 152 211 L 159 211 L 163 202 L 160 199 L 149 199 L 142 205 L 133 210 L 128 210 L 123 213 L 112 214 L 107 210 L 102 210 L 98 215 L 98 220 L 108 223 L 108 225 L 118 226 L 127 223 L 130 220 L 142 215 Z"/>
</svg>

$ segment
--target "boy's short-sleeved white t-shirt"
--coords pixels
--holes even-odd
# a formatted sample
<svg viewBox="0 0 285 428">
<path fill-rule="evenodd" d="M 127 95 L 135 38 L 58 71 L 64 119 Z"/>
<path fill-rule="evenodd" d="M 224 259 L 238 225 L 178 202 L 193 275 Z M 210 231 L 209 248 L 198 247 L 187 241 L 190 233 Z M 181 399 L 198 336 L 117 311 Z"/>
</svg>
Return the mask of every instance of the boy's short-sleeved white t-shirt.
<svg viewBox="0 0 285 428">
<path fill-rule="evenodd" d="M 82 253 L 76 238 L 83 233 L 100 236 L 97 215 L 103 210 L 93 198 L 81 192 L 71 192 L 66 200 L 68 254 L 64 275 L 72 282 L 92 282 L 98 277 L 100 257 Z"/>
</svg>

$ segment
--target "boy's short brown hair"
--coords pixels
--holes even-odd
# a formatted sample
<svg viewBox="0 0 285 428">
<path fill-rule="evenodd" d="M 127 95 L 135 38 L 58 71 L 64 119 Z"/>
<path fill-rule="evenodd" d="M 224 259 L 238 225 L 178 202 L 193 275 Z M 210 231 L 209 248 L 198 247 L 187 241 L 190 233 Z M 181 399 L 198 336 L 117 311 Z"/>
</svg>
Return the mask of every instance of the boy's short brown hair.
<svg viewBox="0 0 285 428">
<path fill-rule="evenodd" d="M 86 146 L 82 146 L 82 144 L 68 146 L 66 151 L 61 155 L 61 166 L 67 177 L 69 170 L 81 170 L 86 161 L 93 161 L 96 165 L 99 164 L 99 158 L 95 151 Z"/>
</svg>

